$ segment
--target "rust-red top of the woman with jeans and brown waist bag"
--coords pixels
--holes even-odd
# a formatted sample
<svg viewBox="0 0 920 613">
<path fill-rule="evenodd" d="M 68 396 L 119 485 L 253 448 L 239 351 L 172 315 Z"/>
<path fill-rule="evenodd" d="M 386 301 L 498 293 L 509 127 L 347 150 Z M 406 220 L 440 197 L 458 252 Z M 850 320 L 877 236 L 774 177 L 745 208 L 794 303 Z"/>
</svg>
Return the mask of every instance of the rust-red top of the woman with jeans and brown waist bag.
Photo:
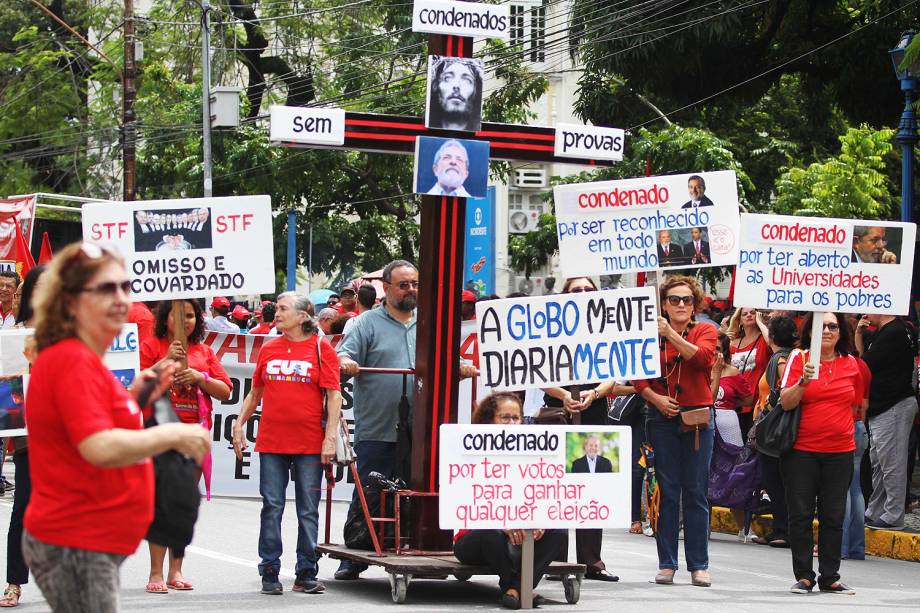
<svg viewBox="0 0 920 613">
<path fill-rule="evenodd" d="M 682 360 L 679 366 L 674 366 L 674 358 L 678 355 L 674 343 L 666 343 L 665 351 L 661 355 L 661 375 L 668 373 L 668 384 L 665 385 L 658 379 L 643 379 L 633 381 L 636 392 L 642 392 L 651 387 L 659 394 L 677 396 L 681 406 L 712 406 L 712 364 L 715 362 L 716 340 L 718 331 L 709 324 L 695 324 L 687 332 L 687 342 L 697 346 L 696 353 L 689 360 Z M 680 392 L 677 385 L 680 384 Z"/>
</svg>

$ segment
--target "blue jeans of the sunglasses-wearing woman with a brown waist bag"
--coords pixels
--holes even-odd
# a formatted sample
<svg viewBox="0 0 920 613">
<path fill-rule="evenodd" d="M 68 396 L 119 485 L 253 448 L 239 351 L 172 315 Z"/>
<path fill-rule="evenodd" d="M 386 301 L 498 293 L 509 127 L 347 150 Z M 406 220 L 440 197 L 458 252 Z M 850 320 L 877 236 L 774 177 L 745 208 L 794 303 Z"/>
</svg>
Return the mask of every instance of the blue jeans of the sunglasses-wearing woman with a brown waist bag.
<svg viewBox="0 0 920 613">
<path fill-rule="evenodd" d="M 655 450 L 655 473 L 661 490 L 658 514 L 658 568 L 677 570 L 678 505 L 684 510 L 684 556 L 687 570 L 709 568 L 709 462 L 712 459 L 713 426 L 700 431 L 695 449 L 694 432 L 680 431 L 680 418 L 665 419 L 649 409 L 648 433 Z"/>
</svg>

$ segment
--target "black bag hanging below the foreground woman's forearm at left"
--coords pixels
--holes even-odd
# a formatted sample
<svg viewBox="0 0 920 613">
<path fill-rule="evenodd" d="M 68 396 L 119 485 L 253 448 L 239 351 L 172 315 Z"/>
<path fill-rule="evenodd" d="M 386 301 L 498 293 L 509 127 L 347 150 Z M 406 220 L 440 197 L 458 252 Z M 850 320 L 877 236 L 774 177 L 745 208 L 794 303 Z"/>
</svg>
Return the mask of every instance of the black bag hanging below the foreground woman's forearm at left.
<svg viewBox="0 0 920 613">
<path fill-rule="evenodd" d="M 153 418 L 148 426 L 178 422 L 167 398 L 153 403 Z M 173 558 L 185 556 L 185 548 L 192 542 L 201 492 L 198 480 L 201 468 L 194 460 L 177 451 L 166 451 L 153 458 L 156 500 L 153 522 L 147 529 L 147 540 L 169 547 Z"/>
</svg>

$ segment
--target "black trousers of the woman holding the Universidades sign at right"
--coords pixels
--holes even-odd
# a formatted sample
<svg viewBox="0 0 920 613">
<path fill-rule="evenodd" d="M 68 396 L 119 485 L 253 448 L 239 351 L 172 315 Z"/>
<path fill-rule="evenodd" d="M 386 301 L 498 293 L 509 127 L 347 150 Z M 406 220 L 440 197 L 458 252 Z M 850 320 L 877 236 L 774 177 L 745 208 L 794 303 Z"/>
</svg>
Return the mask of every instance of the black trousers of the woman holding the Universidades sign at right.
<svg viewBox="0 0 920 613">
<path fill-rule="evenodd" d="M 840 579 L 840 548 L 853 452 L 817 453 L 793 449 L 780 459 L 789 507 L 789 546 L 796 580 L 815 581 L 812 520 L 818 508 L 818 585 Z"/>
</svg>

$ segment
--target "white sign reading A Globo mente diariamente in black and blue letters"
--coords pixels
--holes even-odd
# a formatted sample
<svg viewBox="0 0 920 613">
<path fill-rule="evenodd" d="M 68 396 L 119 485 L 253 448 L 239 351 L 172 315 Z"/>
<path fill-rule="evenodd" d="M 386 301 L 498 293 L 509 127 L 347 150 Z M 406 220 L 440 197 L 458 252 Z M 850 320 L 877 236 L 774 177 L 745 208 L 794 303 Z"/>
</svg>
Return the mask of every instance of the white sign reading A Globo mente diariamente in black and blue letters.
<svg viewBox="0 0 920 613">
<path fill-rule="evenodd" d="M 654 287 L 476 303 L 479 376 L 522 390 L 660 376 Z"/>
</svg>

